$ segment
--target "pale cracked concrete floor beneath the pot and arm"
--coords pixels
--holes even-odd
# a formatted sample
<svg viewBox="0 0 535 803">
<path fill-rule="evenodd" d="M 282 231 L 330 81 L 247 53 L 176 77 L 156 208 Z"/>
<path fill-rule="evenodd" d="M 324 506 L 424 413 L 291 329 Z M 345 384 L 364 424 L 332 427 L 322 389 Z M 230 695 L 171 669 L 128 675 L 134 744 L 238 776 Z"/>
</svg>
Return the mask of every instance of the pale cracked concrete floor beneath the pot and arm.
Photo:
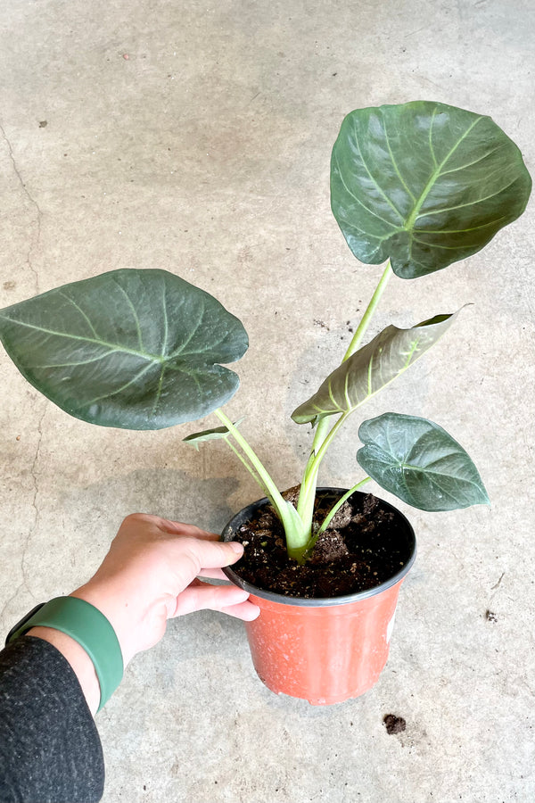
<svg viewBox="0 0 535 803">
<path fill-rule="evenodd" d="M 0 24 L 0 306 L 123 267 L 216 294 L 251 338 L 227 410 L 247 417 L 281 487 L 309 444 L 289 414 L 380 276 L 329 209 L 345 113 L 414 99 L 488 113 L 534 172 L 531 0 L 12 0 Z M 105 803 L 534 798 L 534 252 L 531 203 L 469 261 L 392 280 L 374 320 L 371 334 L 473 302 L 366 417 L 439 422 L 492 500 L 435 515 L 399 504 L 419 557 L 374 690 L 332 708 L 278 698 L 241 623 L 176 620 L 98 716 Z M 128 512 L 218 530 L 257 498 L 224 445 L 182 443 L 197 425 L 93 427 L 0 361 L 0 632 L 85 580 Z M 353 476 L 357 428 L 325 484 Z M 406 731 L 388 735 L 387 714 Z"/>
</svg>

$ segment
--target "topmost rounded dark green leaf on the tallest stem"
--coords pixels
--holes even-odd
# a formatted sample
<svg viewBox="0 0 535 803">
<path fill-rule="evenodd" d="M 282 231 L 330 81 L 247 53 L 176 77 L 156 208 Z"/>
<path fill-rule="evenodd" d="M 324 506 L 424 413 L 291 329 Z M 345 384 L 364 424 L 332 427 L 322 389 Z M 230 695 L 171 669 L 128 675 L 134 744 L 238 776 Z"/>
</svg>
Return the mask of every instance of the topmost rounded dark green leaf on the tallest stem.
<svg viewBox="0 0 535 803">
<path fill-rule="evenodd" d="M 490 117 L 416 101 L 350 112 L 333 146 L 333 214 L 358 260 L 414 278 L 478 252 L 525 209 L 522 154 Z"/>
</svg>

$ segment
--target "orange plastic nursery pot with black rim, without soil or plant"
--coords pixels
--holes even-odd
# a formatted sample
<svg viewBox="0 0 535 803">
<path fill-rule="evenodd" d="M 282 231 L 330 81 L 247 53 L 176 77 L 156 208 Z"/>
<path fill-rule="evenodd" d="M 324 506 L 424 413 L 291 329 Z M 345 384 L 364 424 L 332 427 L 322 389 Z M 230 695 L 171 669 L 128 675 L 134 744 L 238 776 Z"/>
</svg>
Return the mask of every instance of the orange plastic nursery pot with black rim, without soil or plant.
<svg viewBox="0 0 535 803">
<path fill-rule="evenodd" d="M 318 489 L 325 492 L 333 494 L 333 500 L 344 493 Z M 262 499 L 243 508 L 226 525 L 223 540 L 232 541 L 244 522 L 268 503 Z M 224 569 L 260 608 L 259 617 L 245 627 L 253 665 L 271 691 L 322 706 L 358 697 L 379 679 L 388 658 L 399 589 L 416 559 L 415 533 L 407 518 L 383 500 L 381 506 L 395 514 L 396 551 L 404 559 L 399 571 L 375 588 L 344 597 L 302 599 L 257 588 L 233 568 Z"/>
</svg>

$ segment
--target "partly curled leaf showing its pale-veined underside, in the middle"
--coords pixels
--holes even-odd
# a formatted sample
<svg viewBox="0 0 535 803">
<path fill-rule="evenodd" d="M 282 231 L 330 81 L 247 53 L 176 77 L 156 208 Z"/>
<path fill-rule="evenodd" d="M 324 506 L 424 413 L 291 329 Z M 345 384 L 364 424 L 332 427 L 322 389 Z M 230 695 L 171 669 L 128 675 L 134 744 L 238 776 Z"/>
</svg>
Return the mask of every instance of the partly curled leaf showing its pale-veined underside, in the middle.
<svg viewBox="0 0 535 803">
<path fill-rule="evenodd" d="M 390 326 L 333 370 L 317 393 L 293 410 L 297 424 L 355 410 L 427 352 L 457 316 L 438 315 L 410 329 Z"/>
</svg>

